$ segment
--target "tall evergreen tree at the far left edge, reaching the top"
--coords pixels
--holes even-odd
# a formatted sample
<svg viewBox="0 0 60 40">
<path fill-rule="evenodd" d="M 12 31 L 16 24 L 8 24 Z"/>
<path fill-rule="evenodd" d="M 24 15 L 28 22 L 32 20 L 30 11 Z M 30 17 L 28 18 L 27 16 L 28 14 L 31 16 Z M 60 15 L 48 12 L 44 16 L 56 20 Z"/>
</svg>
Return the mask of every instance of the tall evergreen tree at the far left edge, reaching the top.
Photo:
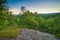
<svg viewBox="0 0 60 40">
<path fill-rule="evenodd" d="M 8 7 L 6 6 L 7 0 L 0 0 L 0 27 L 7 26 L 8 21 Z"/>
</svg>

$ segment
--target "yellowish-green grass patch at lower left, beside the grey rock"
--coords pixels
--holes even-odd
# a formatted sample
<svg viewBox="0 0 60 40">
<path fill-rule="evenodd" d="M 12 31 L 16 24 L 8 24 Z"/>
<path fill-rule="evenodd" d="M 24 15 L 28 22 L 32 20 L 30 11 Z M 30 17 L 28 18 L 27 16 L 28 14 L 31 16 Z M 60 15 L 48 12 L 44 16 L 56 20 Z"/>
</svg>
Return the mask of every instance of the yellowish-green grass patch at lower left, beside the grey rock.
<svg viewBox="0 0 60 40">
<path fill-rule="evenodd" d="M 0 30 L 0 37 L 16 37 L 19 34 L 18 28 L 8 27 Z"/>
</svg>

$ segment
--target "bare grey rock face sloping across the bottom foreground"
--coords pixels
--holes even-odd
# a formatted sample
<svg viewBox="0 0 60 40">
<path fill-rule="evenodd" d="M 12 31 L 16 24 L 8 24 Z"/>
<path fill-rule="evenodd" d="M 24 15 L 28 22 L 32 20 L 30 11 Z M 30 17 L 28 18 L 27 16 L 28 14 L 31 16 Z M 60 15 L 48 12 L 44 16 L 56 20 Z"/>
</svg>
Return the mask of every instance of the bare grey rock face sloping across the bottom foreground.
<svg viewBox="0 0 60 40">
<path fill-rule="evenodd" d="M 43 33 L 32 29 L 20 29 L 20 35 L 16 40 L 58 40 L 52 34 Z"/>
</svg>

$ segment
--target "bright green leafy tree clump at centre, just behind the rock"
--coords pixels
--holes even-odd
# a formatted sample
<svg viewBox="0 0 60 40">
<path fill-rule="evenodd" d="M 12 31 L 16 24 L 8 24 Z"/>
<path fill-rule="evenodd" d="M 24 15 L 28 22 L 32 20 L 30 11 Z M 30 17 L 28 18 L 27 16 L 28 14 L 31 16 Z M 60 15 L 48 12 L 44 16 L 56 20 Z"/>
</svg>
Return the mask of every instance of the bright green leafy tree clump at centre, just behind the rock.
<svg viewBox="0 0 60 40">
<path fill-rule="evenodd" d="M 20 17 L 20 25 L 27 28 L 33 28 L 37 26 L 37 21 L 35 20 L 35 15 L 32 12 L 25 12 Z"/>
</svg>

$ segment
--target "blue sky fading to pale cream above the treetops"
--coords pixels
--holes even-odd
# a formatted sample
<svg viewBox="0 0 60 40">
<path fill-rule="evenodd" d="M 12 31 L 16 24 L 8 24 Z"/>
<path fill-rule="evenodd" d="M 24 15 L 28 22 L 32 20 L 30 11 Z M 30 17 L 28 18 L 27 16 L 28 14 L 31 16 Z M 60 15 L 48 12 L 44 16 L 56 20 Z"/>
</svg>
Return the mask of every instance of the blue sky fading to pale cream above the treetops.
<svg viewBox="0 0 60 40">
<path fill-rule="evenodd" d="M 13 14 L 19 14 L 21 6 L 32 12 L 60 12 L 60 0 L 8 0 L 8 6 Z"/>
</svg>

